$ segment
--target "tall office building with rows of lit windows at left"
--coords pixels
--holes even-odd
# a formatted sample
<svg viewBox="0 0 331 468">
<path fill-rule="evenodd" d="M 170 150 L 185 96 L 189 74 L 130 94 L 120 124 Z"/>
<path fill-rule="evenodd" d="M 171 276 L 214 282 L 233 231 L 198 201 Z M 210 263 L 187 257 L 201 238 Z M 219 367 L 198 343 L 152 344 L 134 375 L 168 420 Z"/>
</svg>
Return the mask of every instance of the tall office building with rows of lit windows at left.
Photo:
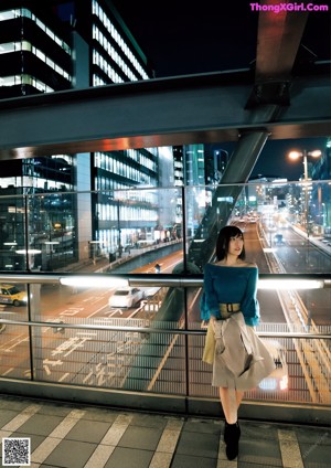
<svg viewBox="0 0 331 468">
<path fill-rule="evenodd" d="M 111 1 L 36 3 L 1 2 L 0 98 L 152 77 L 146 56 Z M 126 199 L 130 194 L 122 191 L 141 185 L 159 187 L 160 167 L 167 166 L 167 160 L 158 148 L 142 148 L 0 162 L 0 194 L 47 194 L 33 202 L 40 206 L 41 214 L 39 220 L 31 221 L 31 234 L 35 249 L 44 251 L 45 242 L 51 245 L 39 263 L 53 269 L 61 266 L 61 258 L 71 263 L 99 253 L 114 253 L 122 244 L 146 236 L 141 232 L 142 219 L 152 231 L 159 219 L 158 195 L 146 192 L 141 195 L 143 200 L 136 196 L 128 209 Z M 173 176 L 168 173 L 168 177 Z M 68 194 L 72 191 L 92 191 L 95 195 L 82 193 L 74 199 Z M 18 199 L 15 205 L 21 209 L 23 203 Z M 9 210 L 6 202 L 1 212 L 3 226 L 13 222 L 12 213 L 15 213 L 15 230 L 0 238 L 11 243 L 12 256 L 13 245 L 25 244 L 20 214 L 17 208 Z M 154 236 L 151 232 L 149 235 Z M 61 247 L 53 247 L 55 243 Z M 17 258 L 2 263 L 2 268 L 22 267 Z"/>
</svg>

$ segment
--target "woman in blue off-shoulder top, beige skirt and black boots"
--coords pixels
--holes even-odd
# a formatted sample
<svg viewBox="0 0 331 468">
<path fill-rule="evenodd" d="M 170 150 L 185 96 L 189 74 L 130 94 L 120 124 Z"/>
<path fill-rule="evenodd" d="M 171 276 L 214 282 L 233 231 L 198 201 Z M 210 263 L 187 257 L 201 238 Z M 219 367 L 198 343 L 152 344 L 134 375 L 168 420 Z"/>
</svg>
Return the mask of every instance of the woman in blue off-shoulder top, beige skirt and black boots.
<svg viewBox="0 0 331 468">
<path fill-rule="evenodd" d="M 275 363 L 254 331 L 259 322 L 258 269 L 245 262 L 244 235 L 238 227 L 221 230 L 216 257 L 216 263 L 204 267 L 202 318 L 210 323 L 203 360 L 213 364 L 212 385 L 220 387 L 225 416 L 226 456 L 233 460 L 238 455 L 237 411 L 244 391 L 269 375 Z"/>
</svg>

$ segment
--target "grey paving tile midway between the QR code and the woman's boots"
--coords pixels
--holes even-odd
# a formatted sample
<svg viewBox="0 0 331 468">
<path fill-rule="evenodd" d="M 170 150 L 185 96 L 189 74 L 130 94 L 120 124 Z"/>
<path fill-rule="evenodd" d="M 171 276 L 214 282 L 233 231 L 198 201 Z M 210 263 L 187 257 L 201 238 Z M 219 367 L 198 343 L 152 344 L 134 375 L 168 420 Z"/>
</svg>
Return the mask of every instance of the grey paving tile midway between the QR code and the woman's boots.
<svg viewBox="0 0 331 468">
<path fill-rule="evenodd" d="M 118 443 L 120 447 L 156 450 L 162 430 L 154 427 L 129 426 Z"/>
</svg>

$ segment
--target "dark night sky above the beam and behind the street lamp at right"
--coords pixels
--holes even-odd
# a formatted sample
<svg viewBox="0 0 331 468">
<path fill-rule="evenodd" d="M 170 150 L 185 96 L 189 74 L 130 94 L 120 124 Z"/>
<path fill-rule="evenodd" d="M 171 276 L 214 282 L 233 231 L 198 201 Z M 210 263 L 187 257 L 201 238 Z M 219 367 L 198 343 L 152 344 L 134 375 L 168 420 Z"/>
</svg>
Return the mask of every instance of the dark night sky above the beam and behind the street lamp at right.
<svg viewBox="0 0 331 468">
<path fill-rule="evenodd" d="M 258 13 L 249 1 L 113 0 L 156 77 L 247 68 L 256 57 Z M 317 2 L 314 2 L 317 3 Z M 322 1 L 319 4 L 327 4 Z M 330 3 L 328 3 L 330 4 Z M 330 12 L 310 13 L 302 43 L 318 60 L 330 60 Z M 289 162 L 295 147 L 323 149 L 327 138 L 268 141 L 252 176 L 302 176 L 300 161 Z M 233 143 L 220 145 L 231 152 Z"/>
</svg>

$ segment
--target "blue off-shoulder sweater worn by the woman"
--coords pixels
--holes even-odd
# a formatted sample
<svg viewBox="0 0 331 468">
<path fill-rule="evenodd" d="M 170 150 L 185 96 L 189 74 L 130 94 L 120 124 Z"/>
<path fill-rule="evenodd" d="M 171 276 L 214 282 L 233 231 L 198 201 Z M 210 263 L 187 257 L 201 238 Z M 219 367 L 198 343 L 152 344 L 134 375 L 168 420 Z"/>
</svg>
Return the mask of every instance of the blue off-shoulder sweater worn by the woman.
<svg viewBox="0 0 331 468">
<path fill-rule="evenodd" d="M 257 326 L 259 323 L 257 279 L 258 269 L 254 266 L 205 265 L 201 318 L 209 320 L 214 316 L 221 319 L 220 304 L 241 304 L 245 323 L 250 327 Z"/>
</svg>

